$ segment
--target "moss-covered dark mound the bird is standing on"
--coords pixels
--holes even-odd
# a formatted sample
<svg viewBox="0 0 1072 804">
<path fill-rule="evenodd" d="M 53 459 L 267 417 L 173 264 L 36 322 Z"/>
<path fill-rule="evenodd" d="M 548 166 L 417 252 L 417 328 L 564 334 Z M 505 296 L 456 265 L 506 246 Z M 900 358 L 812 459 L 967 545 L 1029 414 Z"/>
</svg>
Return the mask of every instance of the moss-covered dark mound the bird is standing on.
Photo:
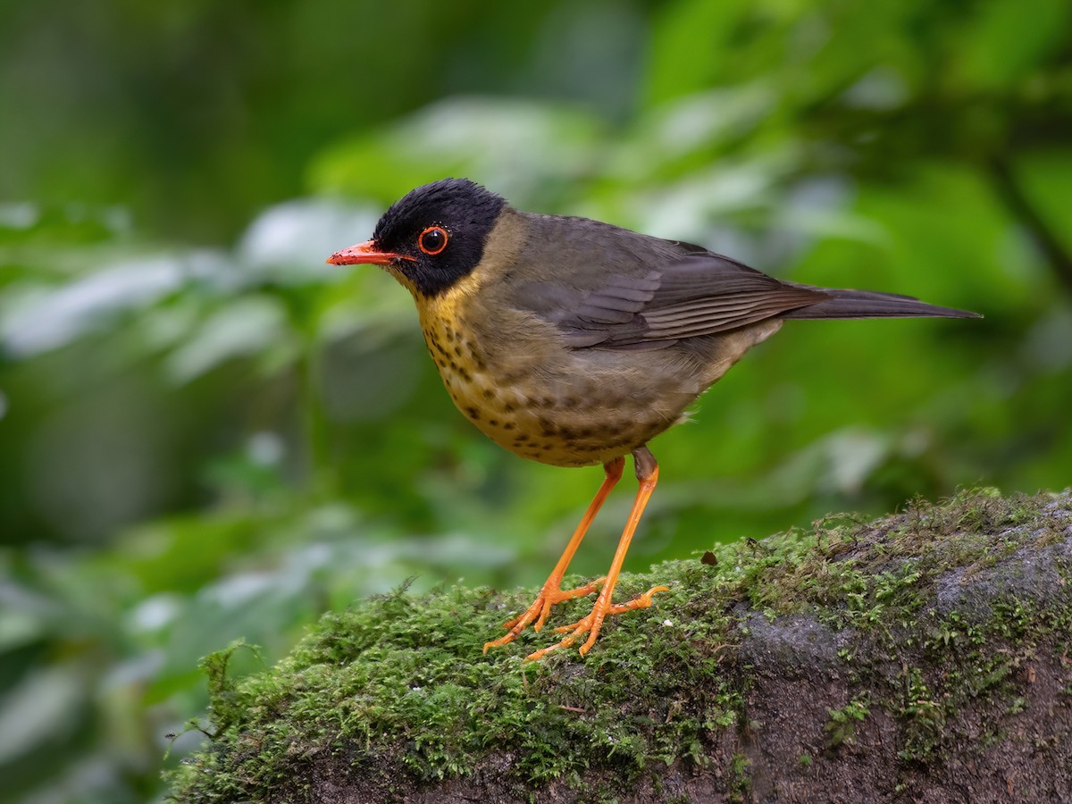
<svg viewBox="0 0 1072 804">
<path fill-rule="evenodd" d="M 1064 801 L 1072 494 L 965 492 L 623 576 L 584 659 L 481 655 L 531 590 L 329 614 L 237 686 L 180 801 Z M 569 622 L 583 601 L 557 613 Z"/>
</svg>

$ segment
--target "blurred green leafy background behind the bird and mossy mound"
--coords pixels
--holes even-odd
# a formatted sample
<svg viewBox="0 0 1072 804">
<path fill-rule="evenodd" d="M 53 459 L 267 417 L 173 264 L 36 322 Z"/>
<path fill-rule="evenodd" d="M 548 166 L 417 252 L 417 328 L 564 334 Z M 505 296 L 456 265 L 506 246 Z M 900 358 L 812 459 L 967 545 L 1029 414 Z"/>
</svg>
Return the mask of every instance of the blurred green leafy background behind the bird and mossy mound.
<svg viewBox="0 0 1072 804">
<path fill-rule="evenodd" d="M 159 798 L 235 638 L 542 580 L 599 470 L 483 440 L 405 292 L 323 265 L 445 175 L 986 314 L 787 325 L 653 445 L 632 568 L 1068 486 L 1070 34 L 1064 0 L 0 6 L 0 799 Z"/>
</svg>

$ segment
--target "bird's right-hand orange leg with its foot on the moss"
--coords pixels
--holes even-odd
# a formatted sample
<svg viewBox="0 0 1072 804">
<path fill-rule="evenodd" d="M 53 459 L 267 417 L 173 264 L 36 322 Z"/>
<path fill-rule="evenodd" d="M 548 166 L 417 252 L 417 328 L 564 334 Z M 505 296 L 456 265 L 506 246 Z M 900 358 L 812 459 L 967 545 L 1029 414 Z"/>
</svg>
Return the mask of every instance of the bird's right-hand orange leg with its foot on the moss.
<svg viewBox="0 0 1072 804">
<path fill-rule="evenodd" d="M 635 449 L 632 458 L 637 465 L 637 479 L 640 480 L 640 489 L 637 491 L 637 498 L 632 503 L 632 510 L 629 511 L 629 520 L 622 532 L 622 538 L 617 542 L 617 550 L 614 551 L 614 560 L 611 562 L 610 571 L 607 574 L 604 586 L 599 591 L 599 597 L 596 598 L 595 605 L 587 616 L 578 620 L 571 625 L 555 628 L 556 632 L 567 635 L 562 641 L 530 654 L 525 657 L 527 660 L 535 661 L 551 651 L 556 651 L 560 647 L 569 647 L 578 639 L 587 634 L 589 638 L 584 640 L 584 644 L 580 649 L 583 656 L 595 644 L 596 637 L 599 636 L 599 628 L 602 626 L 602 621 L 606 617 L 632 609 L 646 609 L 652 605 L 652 597 L 656 593 L 670 591 L 666 586 L 653 586 L 644 594 L 638 595 L 628 602 L 617 605 L 611 602 L 611 596 L 614 594 L 614 584 L 617 583 L 617 576 L 622 571 L 625 553 L 629 549 L 629 542 L 632 541 L 632 534 L 637 530 L 637 524 L 644 512 L 647 500 L 651 497 L 652 491 L 655 490 L 655 483 L 659 479 L 658 464 L 655 462 L 655 457 L 647 450 L 647 447 L 638 447 Z"/>
</svg>

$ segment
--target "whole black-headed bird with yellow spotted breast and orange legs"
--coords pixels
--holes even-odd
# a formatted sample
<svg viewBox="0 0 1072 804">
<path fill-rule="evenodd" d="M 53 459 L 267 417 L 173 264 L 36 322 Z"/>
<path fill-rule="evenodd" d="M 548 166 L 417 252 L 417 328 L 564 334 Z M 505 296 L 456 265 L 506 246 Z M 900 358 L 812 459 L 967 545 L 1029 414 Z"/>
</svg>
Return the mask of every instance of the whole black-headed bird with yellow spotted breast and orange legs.
<svg viewBox="0 0 1072 804">
<path fill-rule="evenodd" d="M 416 302 L 425 342 L 458 410 L 522 458 L 604 467 L 604 481 L 533 604 L 483 652 L 539 631 L 552 608 L 597 594 L 562 638 L 525 658 L 596 642 L 608 616 L 653 604 L 657 585 L 615 604 L 614 586 L 659 467 L 649 442 L 787 321 L 976 318 L 910 296 L 787 282 L 702 245 L 609 223 L 524 212 L 461 178 L 392 204 L 372 238 L 336 252 L 337 266 L 375 265 Z M 562 581 L 632 456 L 639 483 L 607 575 Z"/>
</svg>

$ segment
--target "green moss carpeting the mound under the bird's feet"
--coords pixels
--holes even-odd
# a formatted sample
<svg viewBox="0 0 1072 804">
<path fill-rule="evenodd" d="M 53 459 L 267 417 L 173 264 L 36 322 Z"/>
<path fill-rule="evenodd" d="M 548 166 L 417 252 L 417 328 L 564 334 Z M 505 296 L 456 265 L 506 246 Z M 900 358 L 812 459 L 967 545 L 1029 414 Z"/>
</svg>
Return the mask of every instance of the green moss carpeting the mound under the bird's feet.
<svg viewBox="0 0 1072 804">
<path fill-rule="evenodd" d="M 238 685 L 225 675 L 234 646 L 206 659 L 214 738 L 174 774 L 175 798 L 293 793 L 301 769 L 325 751 L 370 777 L 389 779 L 384 769 L 401 766 L 421 780 L 473 774 L 491 754 L 508 753 L 503 774 L 519 795 L 559 780 L 612 798 L 582 779 L 597 771 L 628 789 L 653 763 L 702 768 L 713 734 L 755 726 L 744 703 L 749 668 L 728 669 L 753 611 L 775 622 L 807 616 L 846 635 L 838 655 L 854 683 L 881 690 L 830 711 L 831 746 L 851 741 L 879 706 L 902 724 L 904 758 L 925 761 L 941 750 L 959 706 L 1002 691 L 1021 655 L 1011 642 L 1027 651 L 1040 635 L 1072 624 L 1068 612 L 1042 616 L 1012 597 L 999 596 L 984 619 L 941 613 L 934 602 L 949 572 L 980 572 L 1053 541 L 1040 516 L 1049 501 L 965 491 L 870 524 L 828 518 L 810 533 L 713 548 L 714 562 L 708 555 L 623 576 L 622 598 L 654 583 L 671 592 L 650 610 L 609 621 L 584 659 L 569 651 L 523 662 L 552 638 L 546 630 L 481 654 L 531 590 L 449 589 L 422 598 L 400 590 L 374 598 L 327 614 L 289 657 Z M 563 605 L 555 619 L 570 622 L 590 605 Z M 947 652 L 929 672 L 898 664 L 908 654 Z M 743 796 L 747 760 L 728 771 L 727 792 Z"/>
</svg>

